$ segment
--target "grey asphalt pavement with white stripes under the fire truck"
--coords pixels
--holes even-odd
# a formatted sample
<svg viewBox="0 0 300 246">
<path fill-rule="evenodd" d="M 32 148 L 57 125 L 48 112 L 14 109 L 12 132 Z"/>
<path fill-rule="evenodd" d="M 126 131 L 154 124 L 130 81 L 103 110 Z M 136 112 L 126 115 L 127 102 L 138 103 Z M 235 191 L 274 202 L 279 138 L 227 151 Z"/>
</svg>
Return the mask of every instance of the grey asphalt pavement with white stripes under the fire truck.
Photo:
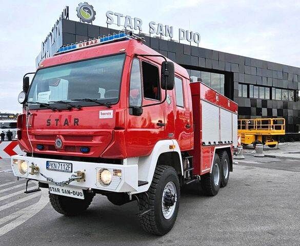
<svg viewBox="0 0 300 246">
<path fill-rule="evenodd" d="M 246 155 L 216 196 L 185 188 L 174 228 L 157 237 L 139 226 L 136 202 L 96 195 L 83 215 L 58 214 L 46 189 L 24 194 L 0 160 L 0 245 L 300 245 L 299 180 L 299 160 Z"/>
</svg>

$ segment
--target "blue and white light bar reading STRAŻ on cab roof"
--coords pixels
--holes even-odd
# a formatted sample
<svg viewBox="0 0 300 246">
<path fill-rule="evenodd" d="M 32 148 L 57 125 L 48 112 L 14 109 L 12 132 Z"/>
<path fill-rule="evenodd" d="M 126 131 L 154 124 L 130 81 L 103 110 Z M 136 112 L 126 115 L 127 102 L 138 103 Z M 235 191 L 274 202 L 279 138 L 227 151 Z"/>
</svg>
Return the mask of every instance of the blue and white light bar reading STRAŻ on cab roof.
<svg viewBox="0 0 300 246">
<path fill-rule="evenodd" d="M 123 40 L 123 39 L 127 39 L 127 38 L 130 39 L 132 37 L 132 35 L 133 35 L 132 32 L 120 32 L 120 33 L 114 34 L 114 35 L 89 39 L 89 41 L 63 46 L 63 47 L 59 48 L 55 54 L 61 54 L 64 52 L 82 49 L 82 48 L 95 46 L 95 45 L 102 45 L 104 43 L 114 42 L 115 40 Z"/>
</svg>

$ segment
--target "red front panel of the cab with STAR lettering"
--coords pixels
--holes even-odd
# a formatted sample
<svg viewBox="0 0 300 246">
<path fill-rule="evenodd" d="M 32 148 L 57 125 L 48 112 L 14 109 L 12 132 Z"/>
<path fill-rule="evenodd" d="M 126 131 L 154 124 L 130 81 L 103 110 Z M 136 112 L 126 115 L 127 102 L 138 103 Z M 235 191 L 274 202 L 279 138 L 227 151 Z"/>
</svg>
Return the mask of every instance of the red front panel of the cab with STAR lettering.
<svg viewBox="0 0 300 246">
<path fill-rule="evenodd" d="M 99 157 L 113 138 L 115 117 L 113 109 L 89 107 L 81 110 L 63 111 L 31 110 L 29 117 L 29 137 L 35 153 Z M 22 133 L 22 142 L 31 152 L 26 129 Z M 55 144 L 62 141 L 62 147 Z M 43 149 L 37 149 L 43 145 Z M 29 147 L 29 148 L 28 148 Z M 81 147 L 88 147 L 88 153 L 82 153 Z"/>
</svg>

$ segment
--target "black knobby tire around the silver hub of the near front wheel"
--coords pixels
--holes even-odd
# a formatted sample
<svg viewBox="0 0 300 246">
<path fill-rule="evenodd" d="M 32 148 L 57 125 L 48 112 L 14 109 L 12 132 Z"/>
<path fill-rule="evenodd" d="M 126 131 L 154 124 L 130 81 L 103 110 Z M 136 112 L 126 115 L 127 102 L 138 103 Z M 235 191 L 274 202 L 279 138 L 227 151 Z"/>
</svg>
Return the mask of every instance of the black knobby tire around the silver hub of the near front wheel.
<svg viewBox="0 0 300 246">
<path fill-rule="evenodd" d="M 162 212 L 162 197 L 169 181 L 172 181 L 176 187 L 177 201 L 172 217 L 166 219 Z M 141 225 L 146 232 L 159 236 L 165 235 L 174 226 L 179 208 L 180 185 L 175 169 L 169 166 L 156 166 L 147 194 L 149 199 L 144 193 L 139 195 L 139 211 L 151 209 L 150 212 L 140 217 Z"/>
</svg>

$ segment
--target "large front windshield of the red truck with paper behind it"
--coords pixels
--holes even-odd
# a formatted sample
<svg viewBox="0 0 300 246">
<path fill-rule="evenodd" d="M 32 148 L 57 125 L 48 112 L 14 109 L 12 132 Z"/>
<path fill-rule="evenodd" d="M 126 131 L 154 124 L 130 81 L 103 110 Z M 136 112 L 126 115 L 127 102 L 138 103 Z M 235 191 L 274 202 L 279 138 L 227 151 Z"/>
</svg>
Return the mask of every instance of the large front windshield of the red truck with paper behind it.
<svg viewBox="0 0 300 246">
<path fill-rule="evenodd" d="M 92 98 L 117 103 L 125 54 L 79 61 L 37 71 L 28 103 Z"/>
</svg>

